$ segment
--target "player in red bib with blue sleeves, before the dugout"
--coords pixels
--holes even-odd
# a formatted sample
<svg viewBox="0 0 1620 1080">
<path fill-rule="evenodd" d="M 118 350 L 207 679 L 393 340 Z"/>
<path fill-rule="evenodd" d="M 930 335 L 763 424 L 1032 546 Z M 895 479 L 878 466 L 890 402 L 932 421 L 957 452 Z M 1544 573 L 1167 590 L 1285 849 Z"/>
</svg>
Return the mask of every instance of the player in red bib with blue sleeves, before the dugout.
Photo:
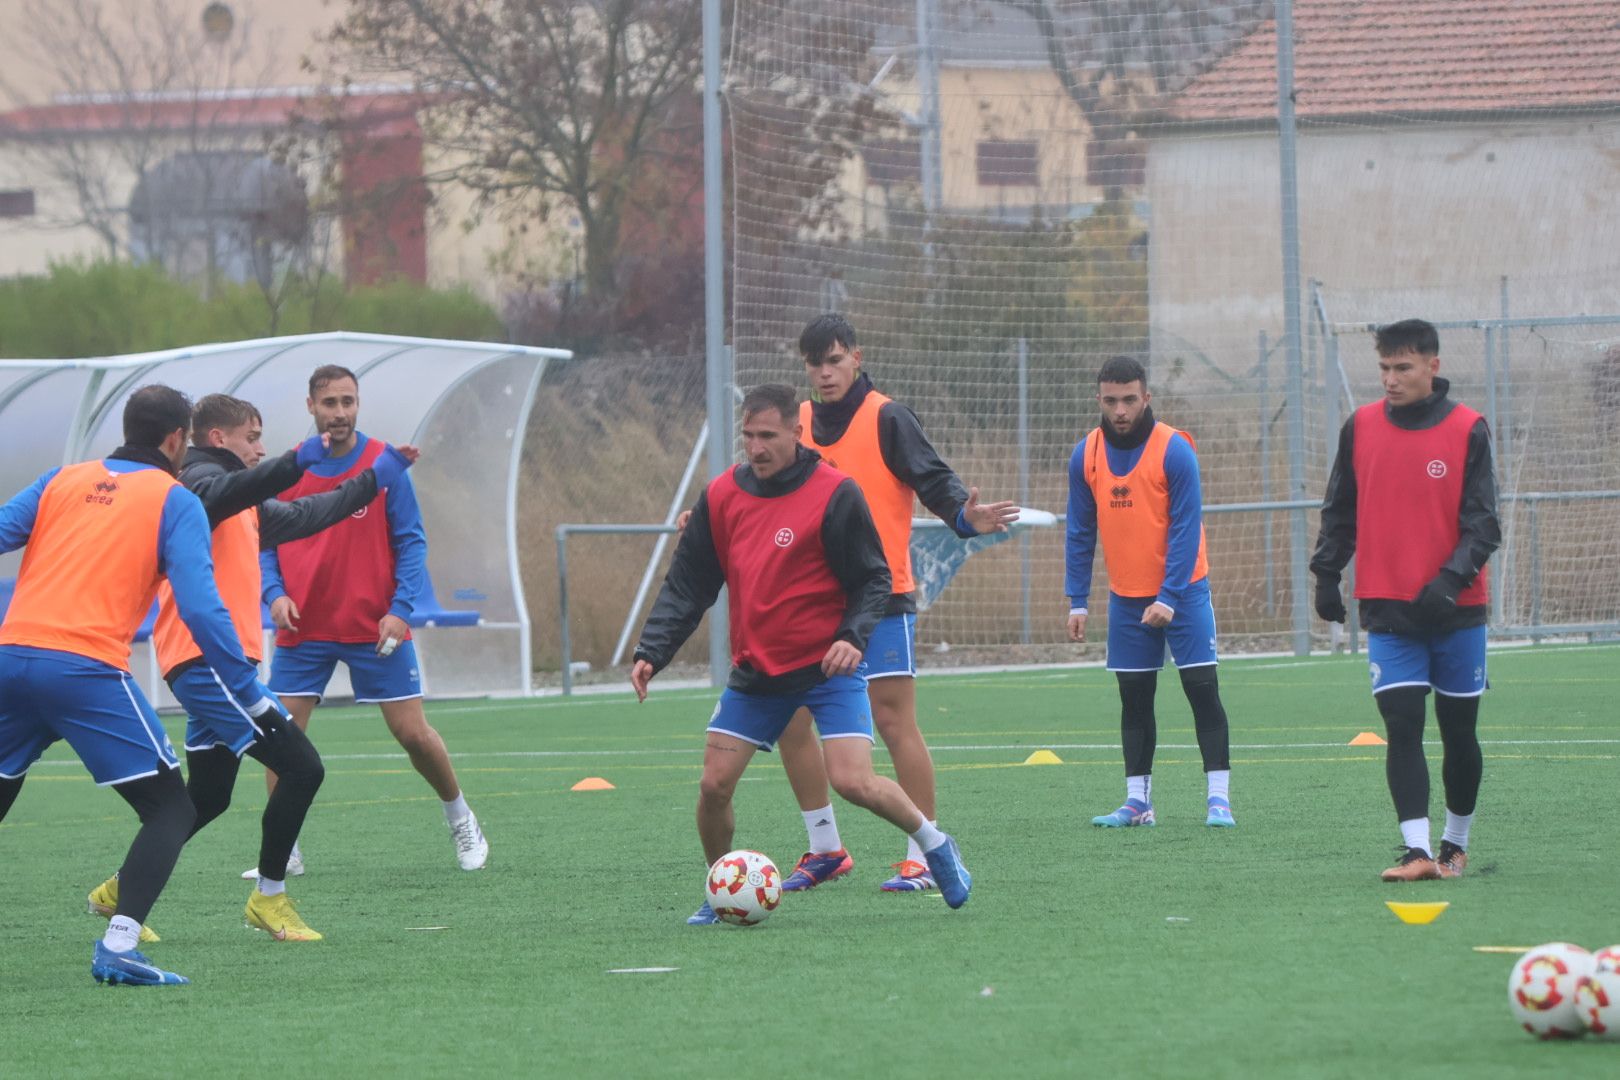
<svg viewBox="0 0 1620 1080">
<path fill-rule="evenodd" d="M 360 382 L 347 368 L 314 369 L 309 415 L 316 431 L 330 436 L 330 457 L 306 471 L 284 499 L 332 491 L 373 468 L 387 450 L 387 444 L 356 427 Z M 264 601 L 277 627 L 271 687 L 282 688 L 293 722 L 309 729 L 309 716 L 342 661 L 355 701 L 381 706 L 389 732 L 444 803 L 457 865 L 481 870 L 489 842 L 421 704 L 407 619 L 428 578 L 428 534 L 410 476 L 402 474 L 339 525 L 266 551 L 259 565 Z M 274 772 L 267 780 L 274 790 Z"/>
</svg>

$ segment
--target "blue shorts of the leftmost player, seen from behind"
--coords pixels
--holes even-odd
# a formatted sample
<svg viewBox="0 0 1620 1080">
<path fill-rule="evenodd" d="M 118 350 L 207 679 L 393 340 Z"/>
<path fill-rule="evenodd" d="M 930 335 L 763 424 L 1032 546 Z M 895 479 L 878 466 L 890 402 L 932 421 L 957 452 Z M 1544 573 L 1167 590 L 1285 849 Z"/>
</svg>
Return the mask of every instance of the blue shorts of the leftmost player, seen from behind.
<svg viewBox="0 0 1620 1080">
<path fill-rule="evenodd" d="M 130 672 L 76 653 L 0 646 L 0 777 L 23 776 L 58 738 L 102 787 L 180 767 Z"/>
</svg>

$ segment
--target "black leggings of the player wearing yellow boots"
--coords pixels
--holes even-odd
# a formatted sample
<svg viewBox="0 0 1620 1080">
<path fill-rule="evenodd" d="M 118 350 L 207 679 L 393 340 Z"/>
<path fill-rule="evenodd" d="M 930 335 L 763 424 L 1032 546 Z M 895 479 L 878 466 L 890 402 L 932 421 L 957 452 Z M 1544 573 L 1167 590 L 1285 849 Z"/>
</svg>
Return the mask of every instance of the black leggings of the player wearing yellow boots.
<svg viewBox="0 0 1620 1080">
<path fill-rule="evenodd" d="M 303 829 L 305 814 L 326 779 L 326 766 L 314 743 L 295 724 L 271 714 L 258 721 L 264 732 L 248 746 L 248 756 L 275 772 L 275 790 L 264 806 L 259 839 L 259 874 L 271 881 L 287 878 L 287 860 Z M 196 836 L 202 826 L 219 818 L 230 806 L 230 793 L 237 787 L 237 771 L 241 759 L 230 750 L 186 751 L 191 772 L 188 792 L 196 805 L 198 819 L 191 829 Z"/>
</svg>

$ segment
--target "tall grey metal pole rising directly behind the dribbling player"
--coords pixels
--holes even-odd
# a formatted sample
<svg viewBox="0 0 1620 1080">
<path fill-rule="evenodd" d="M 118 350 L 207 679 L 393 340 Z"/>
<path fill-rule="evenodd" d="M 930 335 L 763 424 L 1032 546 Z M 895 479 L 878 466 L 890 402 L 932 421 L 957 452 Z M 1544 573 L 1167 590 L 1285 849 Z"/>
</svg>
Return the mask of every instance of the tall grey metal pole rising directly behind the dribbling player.
<svg viewBox="0 0 1620 1080">
<path fill-rule="evenodd" d="M 703 0 L 703 355 L 708 398 L 708 466 L 719 476 L 732 465 L 732 374 L 726 351 L 726 212 L 719 126 L 719 0 Z M 710 683 L 721 687 L 731 669 L 726 594 L 710 609 Z"/>
</svg>

